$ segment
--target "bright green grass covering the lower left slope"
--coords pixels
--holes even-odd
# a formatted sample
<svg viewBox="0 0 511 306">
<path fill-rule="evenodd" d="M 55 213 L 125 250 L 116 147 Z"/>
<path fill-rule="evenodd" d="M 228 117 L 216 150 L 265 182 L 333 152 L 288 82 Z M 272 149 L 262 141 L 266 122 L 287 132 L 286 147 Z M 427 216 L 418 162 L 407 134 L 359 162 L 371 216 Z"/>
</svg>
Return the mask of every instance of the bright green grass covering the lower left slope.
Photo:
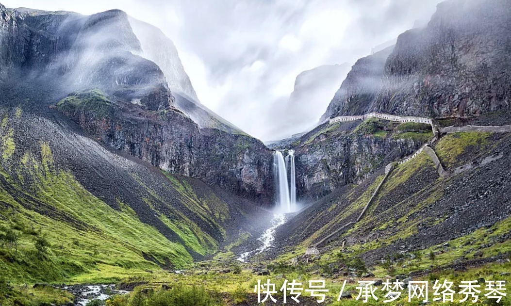
<svg viewBox="0 0 511 306">
<path fill-rule="evenodd" d="M 40 156 L 26 152 L 14 177 L 0 169 L 3 276 L 15 283 L 111 282 L 193 261 L 132 209 L 111 208 L 56 169 L 48 144 L 40 144 Z"/>
</svg>

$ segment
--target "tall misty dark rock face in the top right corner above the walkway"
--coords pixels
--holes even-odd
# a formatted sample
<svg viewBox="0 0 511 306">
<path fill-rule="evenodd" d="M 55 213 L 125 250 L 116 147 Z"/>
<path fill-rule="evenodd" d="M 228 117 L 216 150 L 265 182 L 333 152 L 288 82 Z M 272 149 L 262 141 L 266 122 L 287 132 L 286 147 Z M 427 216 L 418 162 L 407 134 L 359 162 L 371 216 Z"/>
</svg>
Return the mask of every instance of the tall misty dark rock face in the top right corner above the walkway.
<svg viewBox="0 0 511 306">
<path fill-rule="evenodd" d="M 508 110 L 511 3 L 450 0 L 428 26 L 403 33 L 374 110 L 466 117 Z"/>
</svg>

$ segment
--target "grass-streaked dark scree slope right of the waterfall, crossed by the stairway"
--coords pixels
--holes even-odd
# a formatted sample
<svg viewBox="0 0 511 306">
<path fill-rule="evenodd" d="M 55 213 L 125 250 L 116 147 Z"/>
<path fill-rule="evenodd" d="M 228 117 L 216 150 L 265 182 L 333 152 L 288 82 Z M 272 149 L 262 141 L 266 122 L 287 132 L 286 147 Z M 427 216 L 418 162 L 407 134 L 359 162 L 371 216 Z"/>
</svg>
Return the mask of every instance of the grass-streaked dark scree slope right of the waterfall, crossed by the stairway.
<svg viewBox="0 0 511 306">
<path fill-rule="evenodd" d="M 432 267 L 504 262 L 511 256 L 511 215 L 506 209 L 511 177 L 501 169 L 509 169 L 511 159 L 501 153 L 510 148 L 507 134 L 444 136 L 434 146 L 444 166 L 450 171 L 467 164 L 470 167 L 440 178 L 424 152 L 397 166 L 364 218 L 320 248 L 320 259 L 308 269 L 343 263 L 339 254 L 344 259 L 362 258 L 380 277 L 424 273 Z M 482 162 L 495 156 L 502 157 Z M 321 199 L 279 229 L 283 252 L 277 262 L 301 258 L 307 246 L 354 221 L 382 177 L 377 172 L 363 184 Z M 499 213 L 489 213 L 492 211 Z M 286 248 L 284 241 L 292 241 L 294 246 Z"/>
</svg>

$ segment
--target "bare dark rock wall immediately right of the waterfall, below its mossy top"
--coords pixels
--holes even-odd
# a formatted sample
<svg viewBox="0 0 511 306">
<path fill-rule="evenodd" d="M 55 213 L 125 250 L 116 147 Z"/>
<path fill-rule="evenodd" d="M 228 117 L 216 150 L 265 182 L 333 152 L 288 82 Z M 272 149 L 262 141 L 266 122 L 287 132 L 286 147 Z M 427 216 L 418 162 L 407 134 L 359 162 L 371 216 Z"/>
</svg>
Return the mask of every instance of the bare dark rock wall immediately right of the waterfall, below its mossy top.
<svg viewBox="0 0 511 306">
<path fill-rule="evenodd" d="M 350 183 L 361 183 L 385 164 L 422 146 L 410 138 L 338 135 L 296 150 L 296 182 L 300 198 L 317 200 Z"/>
</svg>

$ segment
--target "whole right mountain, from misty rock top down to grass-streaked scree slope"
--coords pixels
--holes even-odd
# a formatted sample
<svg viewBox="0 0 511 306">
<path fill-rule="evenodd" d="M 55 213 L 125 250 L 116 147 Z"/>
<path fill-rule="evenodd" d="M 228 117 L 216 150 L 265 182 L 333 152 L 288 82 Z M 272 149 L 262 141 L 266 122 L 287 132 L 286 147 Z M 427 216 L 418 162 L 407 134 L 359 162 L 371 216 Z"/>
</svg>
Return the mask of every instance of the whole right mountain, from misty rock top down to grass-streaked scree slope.
<svg viewBox="0 0 511 306">
<path fill-rule="evenodd" d="M 510 10 L 508 1 L 448 0 L 427 26 L 357 61 L 321 120 L 378 111 L 431 125 L 326 122 L 284 144 L 294 150 L 298 197 L 313 203 L 277 229 L 284 251 L 265 258 L 320 257 L 316 267 L 339 267 L 324 274 L 349 275 L 357 256 L 410 277 L 504 262 Z M 427 254 L 432 263 L 417 259 Z"/>
</svg>

